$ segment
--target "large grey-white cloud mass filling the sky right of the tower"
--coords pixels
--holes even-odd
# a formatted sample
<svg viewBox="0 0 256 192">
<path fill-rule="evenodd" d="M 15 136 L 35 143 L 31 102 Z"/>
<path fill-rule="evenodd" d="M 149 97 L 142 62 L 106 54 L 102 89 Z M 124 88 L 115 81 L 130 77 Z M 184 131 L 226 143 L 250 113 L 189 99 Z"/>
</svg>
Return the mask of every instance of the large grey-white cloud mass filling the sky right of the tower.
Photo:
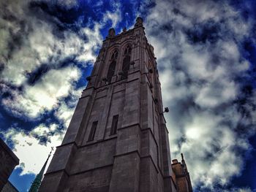
<svg viewBox="0 0 256 192">
<path fill-rule="evenodd" d="M 241 174 L 255 134 L 255 68 L 244 54 L 255 23 L 227 1 L 155 3 L 146 34 L 170 108 L 173 158 L 184 153 L 197 190 L 238 191 L 230 180 Z"/>
</svg>

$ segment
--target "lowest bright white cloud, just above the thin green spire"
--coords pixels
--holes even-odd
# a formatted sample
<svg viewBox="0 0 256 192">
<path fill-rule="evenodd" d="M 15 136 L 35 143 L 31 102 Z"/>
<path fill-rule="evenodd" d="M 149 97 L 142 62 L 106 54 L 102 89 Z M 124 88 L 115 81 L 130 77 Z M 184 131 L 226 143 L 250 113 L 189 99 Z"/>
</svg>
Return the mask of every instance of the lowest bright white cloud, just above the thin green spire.
<svg viewBox="0 0 256 192">
<path fill-rule="evenodd" d="M 13 152 L 20 159 L 17 167 L 22 168 L 21 174 L 39 173 L 42 165 L 45 163 L 50 148 L 61 145 L 62 134 L 56 133 L 58 125 L 51 124 L 49 127 L 40 124 L 29 134 L 19 128 L 10 128 L 4 135 L 6 139 L 11 139 L 14 143 Z M 55 133 L 48 135 L 50 132 Z M 40 143 L 38 137 L 48 136 L 48 141 Z M 49 160 L 50 161 L 50 160 Z"/>
</svg>

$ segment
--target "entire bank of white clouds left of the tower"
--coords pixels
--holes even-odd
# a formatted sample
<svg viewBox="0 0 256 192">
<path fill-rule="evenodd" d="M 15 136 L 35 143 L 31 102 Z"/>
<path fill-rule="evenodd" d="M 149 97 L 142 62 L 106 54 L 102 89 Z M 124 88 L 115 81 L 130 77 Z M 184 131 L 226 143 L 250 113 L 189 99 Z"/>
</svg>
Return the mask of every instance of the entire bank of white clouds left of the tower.
<svg viewBox="0 0 256 192">
<path fill-rule="evenodd" d="M 61 144 L 84 88 L 77 88 L 77 82 L 84 78 L 82 70 L 95 61 L 102 44 L 100 30 L 109 22 L 118 25 L 121 15 L 119 4 L 113 4 L 115 12 L 106 12 L 102 20 L 89 22 L 89 26 L 74 23 L 77 28 L 72 31 L 43 12 L 42 2 L 66 10 L 78 5 L 77 1 L 59 0 L 0 1 L 0 88 L 6 95 L 1 104 L 21 119 L 39 120 L 53 112 L 50 118 L 59 121 L 49 127 L 40 124 L 31 131 L 17 128 L 13 122 L 4 131 L 20 158 L 22 174 L 37 174 L 50 147 Z"/>
</svg>

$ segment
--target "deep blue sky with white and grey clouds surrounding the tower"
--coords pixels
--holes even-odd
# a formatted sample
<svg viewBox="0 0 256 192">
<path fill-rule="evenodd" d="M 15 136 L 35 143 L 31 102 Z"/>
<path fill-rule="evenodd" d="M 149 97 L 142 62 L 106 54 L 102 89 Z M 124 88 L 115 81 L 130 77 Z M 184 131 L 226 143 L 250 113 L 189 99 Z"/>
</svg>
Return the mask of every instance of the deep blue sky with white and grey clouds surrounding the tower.
<svg viewBox="0 0 256 192">
<path fill-rule="evenodd" d="M 256 2 L 0 0 L 0 137 L 27 191 L 61 144 L 108 29 L 139 15 L 154 46 L 172 158 L 194 191 L 256 191 Z"/>
</svg>

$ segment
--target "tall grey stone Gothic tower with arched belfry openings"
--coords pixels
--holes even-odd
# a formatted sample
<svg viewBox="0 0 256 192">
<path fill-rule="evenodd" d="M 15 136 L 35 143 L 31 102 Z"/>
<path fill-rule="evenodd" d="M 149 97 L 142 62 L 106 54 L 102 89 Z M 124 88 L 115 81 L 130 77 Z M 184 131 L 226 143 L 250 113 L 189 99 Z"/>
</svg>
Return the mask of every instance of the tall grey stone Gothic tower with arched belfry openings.
<svg viewBox="0 0 256 192">
<path fill-rule="evenodd" d="M 109 30 L 87 80 L 39 191 L 176 191 L 157 62 L 142 18 L 121 34 Z"/>
</svg>

